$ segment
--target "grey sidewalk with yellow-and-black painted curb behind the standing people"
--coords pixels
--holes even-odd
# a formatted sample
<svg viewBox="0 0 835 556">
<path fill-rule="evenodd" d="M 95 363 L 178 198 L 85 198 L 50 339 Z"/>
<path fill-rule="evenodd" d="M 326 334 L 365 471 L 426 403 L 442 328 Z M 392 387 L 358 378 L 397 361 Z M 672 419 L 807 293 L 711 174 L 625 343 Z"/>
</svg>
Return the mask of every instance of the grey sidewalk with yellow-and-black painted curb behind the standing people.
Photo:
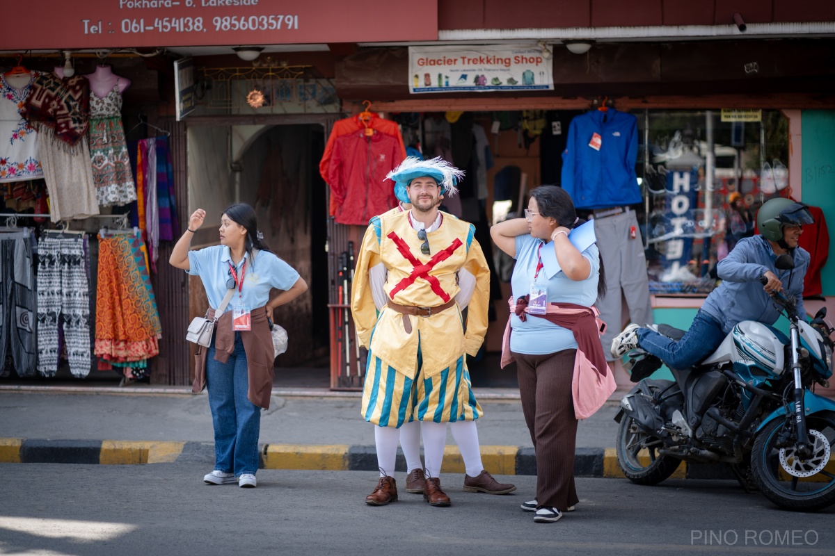
<svg viewBox="0 0 835 556">
<path fill-rule="evenodd" d="M 119 392 L 43 392 L 0 388 L 0 462 L 214 464 L 209 403 L 187 388 L 118 388 Z M 69 389 L 65 388 L 65 389 Z M 74 387 L 78 388 L 78 387 Z M 512 388 L 475 388 L 484 415 L 478 436 L 491 473 L 535 474 L 534 448 Z M 612 399 L 577 433 L 574 472 L 584 477 L 623 477 L 617 465 Z M 359 415 L 360 393 L 321 388 L 273 391 L 261 415 L 261 468 L 375 470 L 372 425 Z M 450 434 L 443 467 L 463 473 Z M 402 455 L 397 471 L 405 470 Z M 685 466 L 680 468 L 685 476 Z M 701 475 L 700 475 L 701 476 Z"/>
</svg>

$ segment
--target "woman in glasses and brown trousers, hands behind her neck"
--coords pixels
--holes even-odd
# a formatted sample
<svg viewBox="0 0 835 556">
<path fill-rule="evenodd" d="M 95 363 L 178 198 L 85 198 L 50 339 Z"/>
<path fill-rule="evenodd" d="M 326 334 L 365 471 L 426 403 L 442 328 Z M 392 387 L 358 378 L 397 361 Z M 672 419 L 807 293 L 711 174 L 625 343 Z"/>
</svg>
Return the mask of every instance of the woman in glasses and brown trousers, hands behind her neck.
<svg viewBox="0 0 835 556">
<path fill-rule="evenodd" d="M 593 231 L 572 233 L 584 221 L 562 188 L 535 188 L 524 213 L 525 218 L 493 225 L 490 235 L 516 259 L 510 281 L 509 352 L 517 363 L 537 466 L 536 499 L 523 503 L 522 509 L 534 512 L 535 522 L 552 523 L 578 502 L 571 379 L 579 346 L 590 347 L 591 353 L 579 353 L 598 362 L 599 371 L 608 371 L 592 308 L 605 293 L 605 278 Z"/>
</svg>

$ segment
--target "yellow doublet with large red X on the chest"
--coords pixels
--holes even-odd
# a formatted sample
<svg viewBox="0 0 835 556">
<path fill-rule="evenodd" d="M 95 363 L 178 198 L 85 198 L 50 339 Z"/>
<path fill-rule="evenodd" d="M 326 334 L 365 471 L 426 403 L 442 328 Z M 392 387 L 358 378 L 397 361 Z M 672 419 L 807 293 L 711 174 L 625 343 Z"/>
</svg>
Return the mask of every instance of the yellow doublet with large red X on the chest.
<svg viewBox="0 0 835 556">
<path fill-rule="evenodd" d="M 420 250 L 423 242 L 417 238 L 408 212 L 385 214 L 378 223 L 379 244 L 377 229 L 372 224 L 362 239 L 354 273 L 351 309 L 360 343 L 383 363 L 412 379 L 417 374 L 418 338 L 422 346 L 423 373 L 427 377 L 454 366 L 464 353 L 478 353 L 487 332 L 490 274 L 481 246 L 472 238 L 472 226 L 445 215 L 441 226 L 427 234 L 431 253 L 424 255 Z M 403 245 L 408 249 L 408 256 L 401 251 Z M 448 258 L 440 256 L 444 250 L 451 253 Z M 415 278 L 408 283 L 415 273 L 413 261 L 428 265 L 432 264 L 433 258 L 437 262 L 428 269 L 428 278 Z M 447 303 L 458 293 L 458 269 L 466 268 L 472 273 L 476 288 L 469 303 L 466 334 L 458 306 L 431 317 L 407 316 L 412 323 L 412 333 L 406 333 L 403 328 L 402 313 L 383 308 L 377 317 L 368 282 L 368 268 L 381 262 L 388 269 L 385 285 L 387 298 L 415 307 L 438 307 Z M 404 280 L 407 282 L 403 283 Z M 431 282 L 435 283 L 435 288 Z"/>
</svg>

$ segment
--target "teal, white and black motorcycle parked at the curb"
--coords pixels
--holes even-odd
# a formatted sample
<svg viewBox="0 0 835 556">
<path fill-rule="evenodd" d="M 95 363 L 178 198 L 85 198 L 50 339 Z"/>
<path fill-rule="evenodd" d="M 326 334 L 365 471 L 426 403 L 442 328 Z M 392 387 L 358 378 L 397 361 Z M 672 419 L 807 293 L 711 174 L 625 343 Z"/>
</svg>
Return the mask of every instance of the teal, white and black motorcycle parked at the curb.
<svg viewBox="0 0 835 556">
<path fill-rule="evenodd" d="M 781 255 L 776 266 L 794 267 Z M 812 391 L 832 376 L 826 308 L 812 323 L 782 292 L 772 299 L 789 320 L 789 336 L 755 321 L 736 324 L 719 348 L 675 380 L 648 378 L 662 362 L 636 349 L 625 368 L 637 382 L 620 401 L 617 458 L 634 483 L 656 484 L 681 461 L 728 463 L 748 491 L 781 508 L 813 511 L 835 503 L 835 402 Z M 659 325 L 681 339 L 685 331 Z"/>
</svg>

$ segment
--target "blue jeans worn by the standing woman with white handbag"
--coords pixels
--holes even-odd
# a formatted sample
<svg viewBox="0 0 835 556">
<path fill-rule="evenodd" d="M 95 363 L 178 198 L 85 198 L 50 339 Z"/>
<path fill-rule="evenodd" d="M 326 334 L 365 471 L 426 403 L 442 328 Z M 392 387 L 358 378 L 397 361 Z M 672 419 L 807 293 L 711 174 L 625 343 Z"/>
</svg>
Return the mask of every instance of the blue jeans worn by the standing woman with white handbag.
<svg viewBox="0 0 835 556">
<path fill-rule="evenodd" d="M 240 332 L 235 333 L 235 351 L 225 364 L 215 359 L 215 340 L 206 354 L 206 388 L 215 425 L 215 470 L 256 474 L 261 408 L 246 398 L 250 379 Z"/>
</svg>

